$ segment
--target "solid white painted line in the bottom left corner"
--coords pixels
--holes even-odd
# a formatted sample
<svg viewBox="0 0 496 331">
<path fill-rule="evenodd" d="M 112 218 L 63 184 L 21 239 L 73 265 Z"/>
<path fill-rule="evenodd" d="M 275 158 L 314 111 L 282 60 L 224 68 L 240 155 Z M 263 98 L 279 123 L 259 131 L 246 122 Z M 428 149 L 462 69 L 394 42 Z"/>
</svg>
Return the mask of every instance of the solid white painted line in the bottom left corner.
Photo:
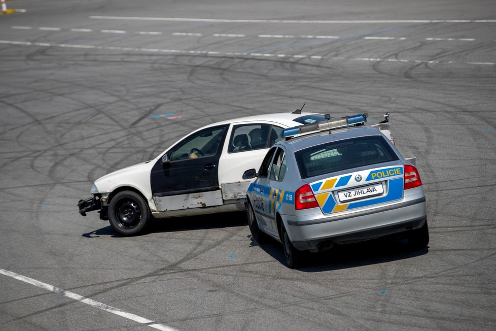
<svg viewBox="0 0 496 331">
<path fill-rule="evenodd" d="M 105 305 L 105 304 L 103 304 L 101 302 L 98 302 L 98 301 L 94 301 L 92 299 L 89 299 L 89 298 L 84 297 L 82 295 L 79 295 L 77 293 L 66 291 L 64 289 L 55 287 L 53 285 L 50 285 L 50 284 L 47 284 L 47 283 L 43 283 L 43 282 L 40 282 L 39 280 L 32 279 L 32 278 L 29 278 L 29 277 L 26 277 L 26 276 L 19 275 L 19 274 L 16 274 L 14 272 L 11 272 L 11 271 L 8 271 L 8 270 L 5 270 L 5 269 L 0 269 L 0 274 L 3 274 L 5 276 L 8 276 L 8 277 L 11 277 L 11 278 L 20 280 L 20 281 L 23 281 L 25 283 L 28 283 L 28 284 L 31 284 L 31 285 L 34 285 L 34 286 L 41 287 L 43 289 L 46 289 L 46 290 L 51 291 L 51 292 L 54 292 L 54 293 L 62 294 L 62 295 L 66 296 L 66 297 L 68 297 L 70 299 L 73 299 L 73 300 L 82 302 L 83 304 L 87 304 L 87 305 L 90 305 L 92 307 L 95 307 L 95 308 L 104 310 L 106 312 L 109 312 L 109 313 L 112 313 L 112 314 L 116 314 L 116 315 L 122 316 L 122 317 L 127 318 L 127 319 L 130 319 L 132 321 L 135 321 L 135 322 L 138 322 L 138 323 L 145 324 L 147 326 L 156 328 L 158 330 L 163 330 L 163 331 L 177 331 L 176 329 L 174 329 L 174 328 L 172 328 L 170 326 L 167 326 L 167 325 L 163 325 L 163 324 L 154 322 L 154 321 L 152 321 L 150 319 L 147 319 L 147 318 L 144 318 L 144 317 L 140 317 L 138 315 L 134 315 L 134 314 L 131 314 L 131 313 L 126 313 L 125 311 L 122 311 L 122 310 L 120 310 L 118 308 L 115 308 L 115 307 L 112 307 L 112 306 L 109 306 L 109 305 Z"/>
</svg>

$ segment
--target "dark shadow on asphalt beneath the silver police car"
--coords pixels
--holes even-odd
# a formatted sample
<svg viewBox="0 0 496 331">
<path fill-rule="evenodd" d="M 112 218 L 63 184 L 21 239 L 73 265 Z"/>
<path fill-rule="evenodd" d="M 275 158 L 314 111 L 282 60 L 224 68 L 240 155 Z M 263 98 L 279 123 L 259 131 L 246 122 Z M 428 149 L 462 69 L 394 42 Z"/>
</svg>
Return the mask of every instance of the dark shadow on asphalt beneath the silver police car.
<svg viewBox="0 0 496 331">
<path fill-rule="evenodd" d="M 259 245 L 252 238 L 250 247 L 253 246 L 259 246 L 274 259 L 286 265 L 282 245 L 275 240 Z M 429 248 L 412 248 L 404 238 L 383 237 L 359 243 L 336 245 L 324 252 L 304 252 L 304 263 L 300 268 L 296 268 L 296 270 L 316 273 L 349 269 L 412 258 L 427 254 L 428 252 Z"/>
</svg>

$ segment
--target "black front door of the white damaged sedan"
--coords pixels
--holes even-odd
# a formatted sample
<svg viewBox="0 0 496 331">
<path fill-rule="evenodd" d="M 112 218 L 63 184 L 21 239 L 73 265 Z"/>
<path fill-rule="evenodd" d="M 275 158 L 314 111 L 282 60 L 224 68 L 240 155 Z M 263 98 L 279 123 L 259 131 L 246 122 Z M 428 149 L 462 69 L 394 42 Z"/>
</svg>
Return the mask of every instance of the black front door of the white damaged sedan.
<svg viewBox="0 0 496 331">
<path fill-rule="evenodd" d="M 159 211 L 222 205 L 218 165 L 227 125 L 198 131 L 169 149 L 152 168 Z"/>
</svg>

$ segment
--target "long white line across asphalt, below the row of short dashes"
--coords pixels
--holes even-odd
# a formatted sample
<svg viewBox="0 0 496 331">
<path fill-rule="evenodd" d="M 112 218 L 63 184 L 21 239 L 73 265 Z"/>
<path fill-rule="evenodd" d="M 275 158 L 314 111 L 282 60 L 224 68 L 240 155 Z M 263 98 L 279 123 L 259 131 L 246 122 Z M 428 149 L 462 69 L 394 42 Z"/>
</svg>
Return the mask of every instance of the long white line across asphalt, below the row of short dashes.
<svg viewBox="0 0 496 331">
<path fill-rule="evenodd" d="M 118 47 L 118 46 L 93 46 L 93 45 L 74 45 L 74 44 L 50 44 L 37 42 L 21 42 L 0 40 L 0 44 L 23 45 L 23 46 L 44 46 L 44 47 L 66 47 L 66 48 L 91 48 L 102 50 L 117 50 L 117 51 L 134 51 L 134 52 L 160 52 L 165 54 L 195 54 L 195 55 L 220 55 L 220 56 L 253 56 L 253 57 L 288 57 L 288 58 L 320 58 L 328 60 L 346 60 L 346 61 L 373 61 L 373 62 L 403 62 L 403 63 L 439 63 L 439 64 L 478 64 L 478 65 L 496 65 L 495 62 L 456 62 L 456 61 L 433 61 L 433 60 L 407 60 L 407 59 L 392 59 L 392 58 L 346 58 L 342 56 L 316 56 L 316 55 L 287 55 L 287 54 L 270 54 L 270 53 L 240 53 L 240 52 L 216 52 L 216 51 L 187 51 L 175 49 L 150 49 L 150 48 L 133 48 L 133 47 Z"/>
</svg>

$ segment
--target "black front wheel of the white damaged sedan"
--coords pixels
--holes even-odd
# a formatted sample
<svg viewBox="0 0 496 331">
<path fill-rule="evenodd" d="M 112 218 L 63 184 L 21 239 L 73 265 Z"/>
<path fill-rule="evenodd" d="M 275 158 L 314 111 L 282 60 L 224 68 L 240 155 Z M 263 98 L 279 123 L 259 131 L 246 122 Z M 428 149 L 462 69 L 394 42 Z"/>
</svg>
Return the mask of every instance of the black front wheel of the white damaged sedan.
<svg viewBox="0 0 496 331">
<path fill-rule="evenodd" d="M 110 224 L 123 236 L 138 234 L 149 223 L 150 218 L 148 203 L 136 192 L 119 192 L 110 201 Z"/>
</svg>

